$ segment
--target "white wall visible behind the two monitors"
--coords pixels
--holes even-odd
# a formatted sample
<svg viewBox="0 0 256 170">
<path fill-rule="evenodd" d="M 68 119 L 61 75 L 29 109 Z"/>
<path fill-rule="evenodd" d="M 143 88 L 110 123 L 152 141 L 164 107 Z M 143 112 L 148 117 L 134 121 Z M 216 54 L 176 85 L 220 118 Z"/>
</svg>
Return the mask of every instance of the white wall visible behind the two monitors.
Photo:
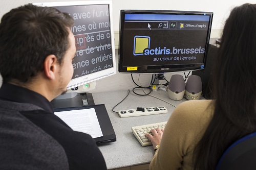
<svg viewBox="0 0 256 170">
<path fill-rule="evenodd" d="M 59 2 L 65 0 L 2 0 L 0 4 L 0 17 L 10 11 L 12 8 L 36 2 Z M 67 0 L 71 1 L 71 0 Z M 214 19 L 212 21 L 211 37 L 220 37 L 223 23 L 230 10 L 238 5 L 244 3 L 255 3 L 255 0 L 113 0 L 113 23 L 115 33 L 115 45 L 118 47 L 118 32 L 119 32 L 119 12 L 121 9 L 156 9 L 156 10 L 185 10 L 185 11 L 207 11 L 214 12 Z M 118 51 L 116 50 L 116 61 L 118 61 Z M 166 79 L 169 80 L 172 74 L 166 74 Z M 135 80 L 138 80 L 139 75 L 135 75 Z M 150 75 L 140 75 L 140 82 L 142 85 L 148 85 L 151 80 Z M 0 76 L 0 86 L 2 84 L 2 77 Z M 132 82 L 130 74 L 117 74 L 109 78 L 105 78 L 96 82 L 96 89 L 92 92 L 112 91 L 121 89 L 131 89 L 135 87 Z"/>
</svg>

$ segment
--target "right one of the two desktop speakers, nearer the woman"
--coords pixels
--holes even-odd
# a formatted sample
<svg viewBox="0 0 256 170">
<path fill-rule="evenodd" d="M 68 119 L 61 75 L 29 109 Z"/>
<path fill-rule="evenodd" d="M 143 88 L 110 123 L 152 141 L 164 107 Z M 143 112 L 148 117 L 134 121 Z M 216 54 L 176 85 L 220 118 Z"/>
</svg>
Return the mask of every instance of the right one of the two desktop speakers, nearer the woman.
<svg viewBox="0 0 256 170">
<path fill-rule="evenodd" d="M 185 87 L 185 98 L 187 100 L 200 99 L 202 94 L 202 81 L 199 76 L 191 75 L 187 79 Z"/>
</svg>

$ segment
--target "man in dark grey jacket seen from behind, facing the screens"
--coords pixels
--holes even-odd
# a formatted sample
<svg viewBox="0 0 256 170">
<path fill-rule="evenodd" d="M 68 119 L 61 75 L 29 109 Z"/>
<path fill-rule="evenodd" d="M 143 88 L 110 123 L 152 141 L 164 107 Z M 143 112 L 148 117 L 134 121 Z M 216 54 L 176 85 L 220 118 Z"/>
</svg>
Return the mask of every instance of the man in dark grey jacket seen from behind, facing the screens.
<svg viewBox="0 0 256 170">
<path fill-rule="evenodd" d="M 50 104 L 73 75 L 73 19 L 25 5 L 0 23 L 0 169 L 106 169 L 94 139 L 73 131 Z"/>
</svg>

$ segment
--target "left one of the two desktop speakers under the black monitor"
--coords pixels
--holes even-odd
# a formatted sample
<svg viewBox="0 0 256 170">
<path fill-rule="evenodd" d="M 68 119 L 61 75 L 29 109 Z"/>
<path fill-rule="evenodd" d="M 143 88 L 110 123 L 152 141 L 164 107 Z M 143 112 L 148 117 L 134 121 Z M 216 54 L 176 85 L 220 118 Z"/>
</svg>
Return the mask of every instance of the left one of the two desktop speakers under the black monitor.
<svg viewBox="0 0 256 170">
<path fill-rule="evenodd" d="M 185 93 L 185 82 L 181 75 L 173 75 L 170 77 L 168 85 L 169 98 L 175 101 L 179 101 L 183 98 Z"/>
</svg>

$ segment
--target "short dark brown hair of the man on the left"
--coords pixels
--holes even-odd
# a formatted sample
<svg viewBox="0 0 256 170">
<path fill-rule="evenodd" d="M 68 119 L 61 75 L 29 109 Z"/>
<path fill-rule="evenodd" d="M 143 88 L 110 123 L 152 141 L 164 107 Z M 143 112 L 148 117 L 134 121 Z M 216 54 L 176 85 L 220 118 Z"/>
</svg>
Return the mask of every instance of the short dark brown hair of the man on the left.
<svg viewBox="0 0 256 170">
<path fill-rule="evenodd" d="M 12 9 L 0 23 L 0 73 L 3 82 L 27 82 L 43 70 L 48 55 L 59 64 L 69 48 L 74 21 L 67 13 L 32 4 Z"/>
</svg>

